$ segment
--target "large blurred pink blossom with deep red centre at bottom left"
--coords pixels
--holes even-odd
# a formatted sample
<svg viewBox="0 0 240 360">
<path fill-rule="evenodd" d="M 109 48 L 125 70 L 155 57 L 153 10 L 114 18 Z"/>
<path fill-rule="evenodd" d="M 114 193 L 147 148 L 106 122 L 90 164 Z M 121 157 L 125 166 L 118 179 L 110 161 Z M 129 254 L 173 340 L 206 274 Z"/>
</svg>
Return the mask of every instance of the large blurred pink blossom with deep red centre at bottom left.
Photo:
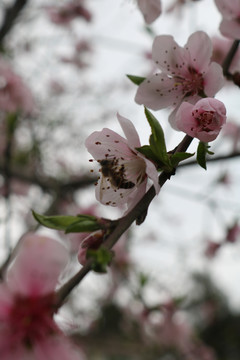
<svg viewBox="0 0 240 360">
<path fill-rule="evenodd" d="M 55 240 L 28 235 L 0 285 L 1 360 L 80 360 L 53 320 L 54 289 L 67 252 Z"/>
</svg>

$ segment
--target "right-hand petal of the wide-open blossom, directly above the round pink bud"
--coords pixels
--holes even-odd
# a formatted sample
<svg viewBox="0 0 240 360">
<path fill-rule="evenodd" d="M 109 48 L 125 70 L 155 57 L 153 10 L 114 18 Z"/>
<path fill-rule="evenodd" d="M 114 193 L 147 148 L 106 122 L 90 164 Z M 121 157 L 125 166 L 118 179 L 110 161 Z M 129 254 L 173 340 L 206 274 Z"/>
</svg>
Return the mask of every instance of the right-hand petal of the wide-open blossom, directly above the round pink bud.
<svg viewBox="0 0 240 360">
<path fill-rule="evenodd" d="M 204 76 L 204 92 L 207 96 L 214 96 L 224 85 L 222 67 L 212 62 Z"/>
</svg>

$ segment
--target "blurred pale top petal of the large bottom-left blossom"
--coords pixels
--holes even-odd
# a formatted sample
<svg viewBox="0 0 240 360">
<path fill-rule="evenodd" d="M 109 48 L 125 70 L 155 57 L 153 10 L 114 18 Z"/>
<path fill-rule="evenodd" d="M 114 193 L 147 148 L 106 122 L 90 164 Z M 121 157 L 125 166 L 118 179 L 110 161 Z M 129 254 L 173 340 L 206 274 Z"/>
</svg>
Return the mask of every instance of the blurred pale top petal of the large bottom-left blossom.
<svg viewBox="0 0 240 360">
<path fill-rule="evenodd" d="M 56 240 L 27 235 L 7 273 L 8 286 L 14 293 L 28 296 L 51 293 L 67 261 L 67 250 Z"/>
</svg>

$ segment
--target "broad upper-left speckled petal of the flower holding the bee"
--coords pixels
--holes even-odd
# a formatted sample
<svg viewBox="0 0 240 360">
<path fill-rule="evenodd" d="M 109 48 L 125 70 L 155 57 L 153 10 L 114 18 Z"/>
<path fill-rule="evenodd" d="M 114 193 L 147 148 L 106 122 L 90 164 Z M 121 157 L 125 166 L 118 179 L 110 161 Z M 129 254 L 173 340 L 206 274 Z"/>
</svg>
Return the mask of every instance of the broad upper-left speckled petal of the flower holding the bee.
<svg viewBox="0 0 240 360">
<path fill-rule="evenodd" d="M 85 146 L 96 160 L 115 157 L 116 153 L 119 157 L 131 156 L 131 149 L 127 145 L 127 140 L 107 128 L 89 135 L 85 141 Z"/>
</svg>

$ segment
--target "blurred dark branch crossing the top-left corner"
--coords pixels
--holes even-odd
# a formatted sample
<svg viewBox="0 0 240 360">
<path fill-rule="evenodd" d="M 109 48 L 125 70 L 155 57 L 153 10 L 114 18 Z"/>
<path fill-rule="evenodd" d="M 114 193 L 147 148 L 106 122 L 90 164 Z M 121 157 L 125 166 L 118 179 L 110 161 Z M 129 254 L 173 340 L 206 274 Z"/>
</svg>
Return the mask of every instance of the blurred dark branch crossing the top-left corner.
<svg viewBox="0 0 240 360">
<path fill-rule="evenodd" d="M 5 36 L 13 27 L 15 20 L 27 2 L 28 0 L 16 0 L 12 6 L 6 9 L 3 24 L 0 28 L 0 43 L 3 42 Z"/>
</svg>

